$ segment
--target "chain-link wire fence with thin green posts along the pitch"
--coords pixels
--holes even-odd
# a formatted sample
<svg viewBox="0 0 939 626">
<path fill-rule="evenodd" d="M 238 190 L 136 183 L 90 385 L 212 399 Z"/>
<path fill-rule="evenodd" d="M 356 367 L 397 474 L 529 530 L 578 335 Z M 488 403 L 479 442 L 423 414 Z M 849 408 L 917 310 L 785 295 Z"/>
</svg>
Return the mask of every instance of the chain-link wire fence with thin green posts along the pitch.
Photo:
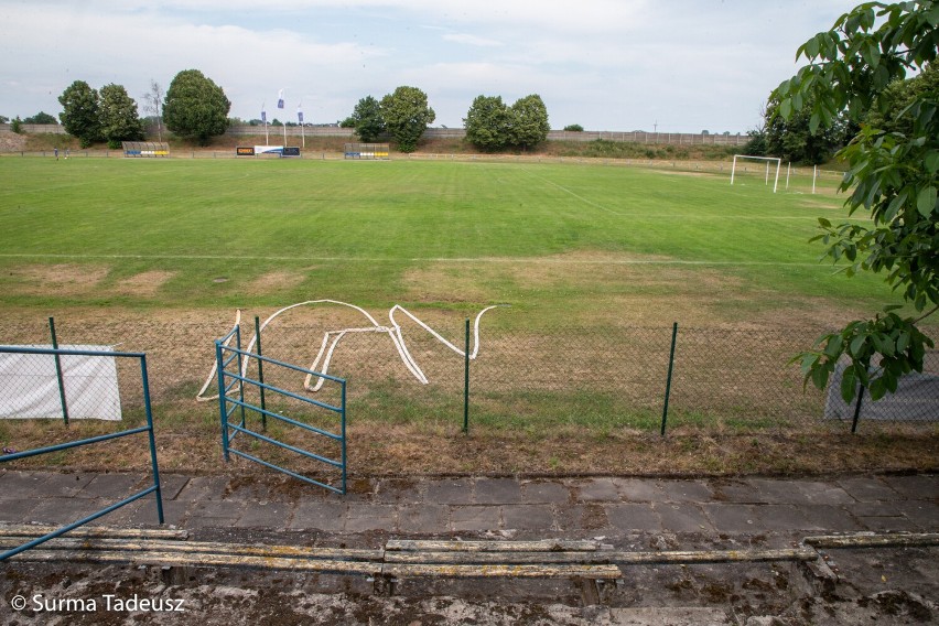
<svg viewBox="0 0 939 626">
<path fill-rule="evenodd" d="M 195 398 L 214 364 L 214 341 L 230 328 L 230 322 L 182 320 L 119 326 L 56 322 L 63 344 L 117 344 L 121 350 L 145 352 L 151 397 L 161 414 L 204 413 L 206 420 L 217 419 L 217 403 Z M 325 335 L 356 324 L 360 326 L 361 320 L 343 321 L 331 328 L 323 327 L 322 321 L 307 325 L 276 320 L 262 335 L 265 356 L 317 371 L 328 366 L 328 374 L 346 378 L 352 423 L 428 428 L 462 423 L 467 397 L 471 429 L 583 427 L 656 432 L 665 425 L 670 434 L 850 432 L 854 417 L 853 411 L 832 411 L 830 407 L 827 411 L 831 393 L 811 385 L 803 390 L 799 368 L 788 365 L 796 353 L 812 344 L 820 330 L 678 327 L 669 379 L 671 327 L 519 331 L 489 327 L 484 322 L 478 356 L 470 361 L 467 393 L 463 356 L 414 324 L 402 323 L 401 337 L 417 371 L 408 366 L 389 332 L 366 328 L 338 338 Z M 462 320 L 440 314 L 429 324 L 463 349 Z M 250 321 L 242 321 L 242 334 L 247 345 L 255 334 Z M 0 323 L 0 335 L 6 344 L 48 343 L 48 328 L 41 322 Z M 939 352 L 927 355 L 925 374 L 933 382 L 939 380 Z M 302 376 L 289 370 L 281 376 L 283 379 L 272 382 L 283 389 L 313 398 L 319 393 L 306 388 Z M 217 393 L 216 387 L 209 382 L 206 396 Z M 121 397 L 139 396 L 132 382 L 121 382 L 120 392 Z M 916 411 L 907 410 L 909 406 L 903 402 L 889 406 L 888 400 L 864 400 L 859 432 L 935 431 L 939 424 L 939 397 L 918 400 Z M 867 404 L 885 409 L 873 419 Z"/>
</svg>

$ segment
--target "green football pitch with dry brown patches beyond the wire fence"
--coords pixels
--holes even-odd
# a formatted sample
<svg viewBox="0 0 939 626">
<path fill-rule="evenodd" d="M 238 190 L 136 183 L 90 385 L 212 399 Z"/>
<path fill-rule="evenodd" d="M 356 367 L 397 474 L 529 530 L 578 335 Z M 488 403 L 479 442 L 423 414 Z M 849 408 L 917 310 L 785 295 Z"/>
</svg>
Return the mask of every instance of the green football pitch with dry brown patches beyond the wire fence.
<svg viewBox="0 0 939 626">
<path fill-rule="evenodd" d="M 808 242 L 819 216 L 843 215 L 841 198 L 773 194 L 762 175 L 731 186 L 611 164 L 82 158 L 6 158 L 0 172 L 8 307 L 331 298 L 507 303 L 533 316 L 512 316 L 525 324 L 780 311 L 827 323 L 889 296 L 875 279 L 833 276 Z"/>
</svg>

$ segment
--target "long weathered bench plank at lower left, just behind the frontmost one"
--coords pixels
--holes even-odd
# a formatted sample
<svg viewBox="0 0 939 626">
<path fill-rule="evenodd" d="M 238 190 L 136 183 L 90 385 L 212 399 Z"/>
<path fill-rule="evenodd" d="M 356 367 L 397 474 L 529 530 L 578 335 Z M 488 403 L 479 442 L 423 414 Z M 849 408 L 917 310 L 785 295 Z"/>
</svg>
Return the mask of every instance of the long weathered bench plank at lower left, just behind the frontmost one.
<svg viewBox="0 0 939 626">
<path fill-rule="evenodd" d="M 0 548 L 14 548 L 22 543 L 0 537 Z M 123 540 L 123 539 L 76 539 L 58 537 L 41 543 L 36 549 L 42 550 L 110 550 L 131 552 L 175 552 L 175 553 L 215 553 L 244 557 L 265 557 L 281 559 L 320 559 L 348 561 L 381 561 L 384 550 L 363 550 L 355 548 L 319 548 L 303 546 L 269 546 L 262 543 L 217 543 L 213 541 L 160 541 L 160 540 Z"/>
</svg>

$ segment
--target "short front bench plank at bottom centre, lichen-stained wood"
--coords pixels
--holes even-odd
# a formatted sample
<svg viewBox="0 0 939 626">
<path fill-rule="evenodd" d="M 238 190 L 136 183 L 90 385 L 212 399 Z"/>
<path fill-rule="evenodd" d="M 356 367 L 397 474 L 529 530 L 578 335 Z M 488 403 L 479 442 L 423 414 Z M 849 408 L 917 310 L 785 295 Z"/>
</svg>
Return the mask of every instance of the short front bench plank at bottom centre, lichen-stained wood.
<svg viewBox="0 0 939 626">
<path fill-rule="evenodd" d="M 389 563 L 381 574 L 392 578 L 444 579 L 601 579 L 617 580 L 623 573 L 616 565 L 454 565 Z"/>
</svg>

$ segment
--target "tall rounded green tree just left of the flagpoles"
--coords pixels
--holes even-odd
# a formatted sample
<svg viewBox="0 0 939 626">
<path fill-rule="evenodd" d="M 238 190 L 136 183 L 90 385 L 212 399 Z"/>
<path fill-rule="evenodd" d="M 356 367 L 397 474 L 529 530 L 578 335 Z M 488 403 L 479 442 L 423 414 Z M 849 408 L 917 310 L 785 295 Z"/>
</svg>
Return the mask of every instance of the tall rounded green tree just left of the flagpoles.
<svg viewBox="0 0 939 626">
<path fill-rule="evenodd" d="M 211 137 L 225 133 L 230 109 L 222 87 L 198 69 L 184 69 L 166 89 L 163 121 L 176 134 L 208 145 Z"/>
</svg>

